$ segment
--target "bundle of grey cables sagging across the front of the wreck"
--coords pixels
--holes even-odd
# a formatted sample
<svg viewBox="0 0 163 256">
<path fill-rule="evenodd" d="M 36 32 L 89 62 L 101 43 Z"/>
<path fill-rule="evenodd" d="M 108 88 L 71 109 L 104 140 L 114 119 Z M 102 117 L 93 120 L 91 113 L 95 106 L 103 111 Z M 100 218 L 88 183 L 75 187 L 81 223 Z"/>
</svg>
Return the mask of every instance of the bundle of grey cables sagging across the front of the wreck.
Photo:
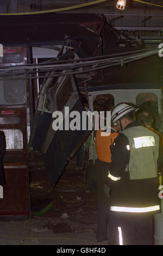
<svg viewBox="0 0 163 256">
<path fill-rule="evenodd" d="M 116 65 L 122 65 L 125 63 L 133 62 L 134 60 L 146 58 L 149 56 L 152 56 L 154 54 L 158 53 L 158 48 L 152 48 L 150 50 L 144 50 L 142 52 L 137 51 L 137 53 L 133 54 L 127 54 L 124 56 L 118 56 L 118 57 L 105 57 L 99 56 L 99 59 L 97 57 L 89 58 L 89 60 L 83 61 L 83 59 L 80 59 L 80 62 L 77 62 L 77 60 L 72 60 L 72 62 L 65 60 L 65 63 L 55 62 L 53 64 L 28 64 L 28 65 L 20 65 L 20 66 L 4 66 L 0 67 L 0 76 L 1 77 L 18 77 L 19 74 L 16 74 L 16 70 L 26 70 L 26 74 L 30 74 L 32 78 L 41 78 L 41 77 L 57 77 L 57 76 L 66 76 L 70 74 L 80 74 L 80 73 L 86 73 L 91 72 L 99 69 L 105 69 L 109 68 L 111 66 Z M 100 59 L 101 58 L 101 59 Z M 36 69 L 40 70 L 41 74 L 39 76 L 36 76 Z M 64 73 L 62 72 L 64 70 Z M 9 71 L 9 73 L 6 73 Z M 11 72 L 10 72 L 11 71 Z M 13 72 L 12 72 L 13 71 Z M 51 71 L 51 74 L 47 74 L 48 71 Z M 44 74 L 42 74 L 45 72 Z M 24 75 L 24 72 L 22 72 Z M 22 79 L 22 78 L 21 78 Z"/>
</svg>

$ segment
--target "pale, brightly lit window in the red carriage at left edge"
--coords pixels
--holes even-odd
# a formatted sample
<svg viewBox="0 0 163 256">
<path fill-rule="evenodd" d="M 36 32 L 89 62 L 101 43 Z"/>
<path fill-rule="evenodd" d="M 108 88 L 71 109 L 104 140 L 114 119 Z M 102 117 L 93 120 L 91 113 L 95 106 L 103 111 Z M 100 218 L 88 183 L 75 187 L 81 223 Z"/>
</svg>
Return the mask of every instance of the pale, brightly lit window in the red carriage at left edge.
<svg viewBox="0 0 163 256">
<path fill-rule="evenodd" d="M 23 133 L 18 129 L 4 129 L 6 149 L 23 149 Z"/>
</svg>

